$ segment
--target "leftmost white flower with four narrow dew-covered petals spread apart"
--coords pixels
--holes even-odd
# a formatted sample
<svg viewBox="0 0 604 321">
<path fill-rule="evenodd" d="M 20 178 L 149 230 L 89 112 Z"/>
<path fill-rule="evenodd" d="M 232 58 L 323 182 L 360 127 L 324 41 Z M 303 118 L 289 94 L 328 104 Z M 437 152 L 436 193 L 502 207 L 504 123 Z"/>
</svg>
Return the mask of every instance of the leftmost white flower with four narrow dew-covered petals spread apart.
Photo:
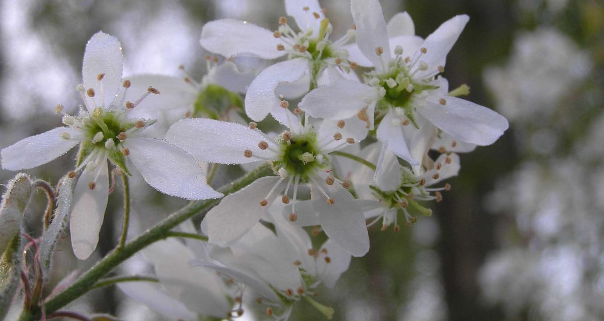
<svg viewBox="0 0 604 321">
<path fill-rule="evenodd" d="M 109 191 L 107 160 L 129 173 L 134 168 L 149 185 L 164 194 L 185 199 L 213 199 L 222 194 L 205 182 L 205 174 L 184 151 L 158 139 L 147 138 L 141 130 L 153 121 L 130 119 L 125 95 L 131 82 L 121 81 L 120 42 L 98 32 L 86 44 L 82 66 L 83 84 L 79 86 L 85 108 L 77 116 L 63 112 L 58 127 L 2 149 L 2 168 L 27 170 L 56 159 L 80 145 L 76 169 L 82 171 L 74 192 L 70 230 L 74 253 L 86 259 L 98 243 Z M 149 94 L 159 91 L 149 87 L 138 104 Z M 62 112 L 62 106 L 57 106 Z"/>
</svg>

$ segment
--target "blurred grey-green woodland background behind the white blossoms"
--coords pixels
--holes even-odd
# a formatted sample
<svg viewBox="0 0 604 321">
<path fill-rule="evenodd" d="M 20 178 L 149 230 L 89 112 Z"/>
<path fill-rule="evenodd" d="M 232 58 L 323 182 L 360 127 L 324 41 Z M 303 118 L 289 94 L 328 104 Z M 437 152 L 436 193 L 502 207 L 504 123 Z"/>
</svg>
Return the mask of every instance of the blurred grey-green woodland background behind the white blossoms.
<svg viewBox="0 0 604 321">
<path fill-rule="evenodd" d="M 604 4 L 596 0 L 382 0 L 388 21 L 406 10 L 426 37 L 455 14 L 471 17 L 448 56 L 451 87 L 497 110 L 510 129 L 495 144 L 461 155 L 452 191 L 432 217 L 395 233 L 370 229 L 371 250 L 355 258 L 321 302 L 335 320 L 604 319 Z M 348 0 L 323 0 L 337 39 L 352 25 Z M 86 41 L 98 30 L 121 40 L 124 75 L 205 74 L 204 22 L 243 19 L 275 30 L 279 0 L 0 2 L 0 148 L 60 126 L 54 106 L 81 103 Z M 57 180 L 72 154 L 27 171 Z M 71 157 L 71 158 L 70 158 Z M 0 171 L 5 182 L 14 173 Z M 132 183 L 136 235 L 182 205 Z M 117 194 L 117 195 L 116 195 Z M 30 217 L 36 234 L 39 208 Z M 120 192 L 110 196 L 96 255 L 57 252 L 53 282 L 86 269 L 115 245 Z M 112 218 L 114 218 L 112 220 Z M 133 258 L 122 267 L 144 271 Z M 48 289 L 50 291 L 50 288 Z M 115 288 L 69 307 L 124 320 L 163 320 Z M 248 320 L 254 320 L 247 315 Z M 263 314 L 259 314 L 262 319 Z M 303 302 L 291 320 L 321 320 Z"/>
</svg>

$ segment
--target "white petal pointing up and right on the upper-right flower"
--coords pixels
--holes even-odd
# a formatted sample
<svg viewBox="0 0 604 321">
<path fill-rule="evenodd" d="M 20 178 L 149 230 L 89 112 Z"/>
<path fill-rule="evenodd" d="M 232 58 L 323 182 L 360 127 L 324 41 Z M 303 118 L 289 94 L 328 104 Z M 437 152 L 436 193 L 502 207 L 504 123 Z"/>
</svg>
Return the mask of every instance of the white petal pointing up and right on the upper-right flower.
<svg viewBox="0 0 604 321">
<path fill-rule="evenodd" d="M 426 75 L 434 74 L 438 66 L 445 66 L 447 54 L 453 48 L 469 19 L 466 14 L 454 16 L 445 21 L 424 40 L 422 47 L 426 48 L 427 51 L 420 60 L 428 64 L 428 69 L 417 72 L 415 78 L 422 79 Z"/>
</svg>

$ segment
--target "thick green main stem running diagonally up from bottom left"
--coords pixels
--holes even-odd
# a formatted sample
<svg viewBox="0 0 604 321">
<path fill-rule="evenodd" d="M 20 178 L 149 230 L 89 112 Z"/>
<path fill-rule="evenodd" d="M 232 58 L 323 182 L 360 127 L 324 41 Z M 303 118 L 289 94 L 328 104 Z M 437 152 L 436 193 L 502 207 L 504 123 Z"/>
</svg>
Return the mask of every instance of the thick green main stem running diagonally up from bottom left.
<svg viewBox="0 0 604 321">
<path fill-rule="evenodd" d="M 260 177 L 274 175 L 270 164 L 264 164 L 255 170 L 249 172 L 246 176 L 237 180 L 236 182 L 228 183 L 220 191 L 223 194 L 231 194 L 239 191 L 239 189 L 248 186 L 250 183 L 259 179 Z M 163 240 L 168 237 L 170 230 L 178 226 L 182 222 L 188 220 L 197 214 L 205 214 L 210 211 L 211 208 L 216 206 L 220 202 L 219 199 L 215 200 L 197 200 L 189 203 L 184 208 L 173 212 L 168 217 L 164 218 L 161 222 L 146 230 L 143 234 L 139 235 L 134 240 L 130 241 L 122 249 L 114 249 L 108 255 L 104 256 L 101 261 L 92 266 L 86 273 L 76 280 L 65 290 L 61 291 L 52 299 L 45 303 L 46 313 L 50 314 L 54 311 L 64 307 L 69 302 L 82 296 L 94 286 L 94 284 L 107 273 L 111 272 L 115 267 L 126 261 L 130 256 L 135 255 L 138 251 L 144 249 L 150 244 Z M 34 321 L 40 319 L 40 308 L 36 307 L 32 311 L 24 310 L 19 316 L 19 321 Z"/>
</svg>

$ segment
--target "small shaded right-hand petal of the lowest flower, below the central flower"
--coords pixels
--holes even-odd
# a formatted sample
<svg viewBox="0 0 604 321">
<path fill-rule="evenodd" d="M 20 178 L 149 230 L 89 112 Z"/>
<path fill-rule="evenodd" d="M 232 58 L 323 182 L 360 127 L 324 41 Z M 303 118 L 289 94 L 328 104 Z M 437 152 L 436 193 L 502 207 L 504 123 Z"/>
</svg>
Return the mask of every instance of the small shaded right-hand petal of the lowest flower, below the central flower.
<svg viewBox="0 0 604 321">
<path fill-rule="evenodd" d="M 321 250 L 327 250 L 327 254 L 323 254 Z M 344 252 L 333 240 L 327 240 L 323 246 L 321 246 L 321 256 L 329 256 L 329 263 L 325 261 L 325 258 L 318 258 L 316 260 L 317 270 L 325 271 L 321 277 L 323 284 L 329 288 L 333 288 L 338 282 L 339 277 L 348 270 L 350 265 L 350 259 L 352 258 L 349 253 Z"/>
</svg>

